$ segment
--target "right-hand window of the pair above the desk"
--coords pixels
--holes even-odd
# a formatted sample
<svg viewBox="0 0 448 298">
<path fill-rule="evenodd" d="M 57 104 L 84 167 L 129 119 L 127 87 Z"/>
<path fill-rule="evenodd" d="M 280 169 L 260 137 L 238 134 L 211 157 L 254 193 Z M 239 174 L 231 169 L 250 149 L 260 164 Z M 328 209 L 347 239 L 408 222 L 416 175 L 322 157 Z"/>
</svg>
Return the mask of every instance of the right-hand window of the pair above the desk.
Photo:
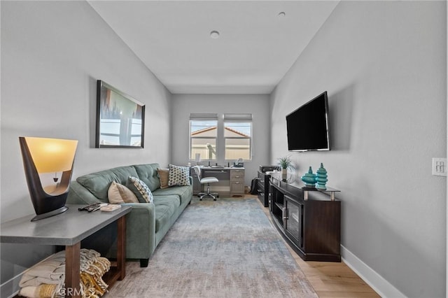
<svg viewBox="0 0 448 298">
<path fill-rule="evenodd" d="M 225 160 L 251 160 L 252 114 L 224 114 Z"/>
</svg>

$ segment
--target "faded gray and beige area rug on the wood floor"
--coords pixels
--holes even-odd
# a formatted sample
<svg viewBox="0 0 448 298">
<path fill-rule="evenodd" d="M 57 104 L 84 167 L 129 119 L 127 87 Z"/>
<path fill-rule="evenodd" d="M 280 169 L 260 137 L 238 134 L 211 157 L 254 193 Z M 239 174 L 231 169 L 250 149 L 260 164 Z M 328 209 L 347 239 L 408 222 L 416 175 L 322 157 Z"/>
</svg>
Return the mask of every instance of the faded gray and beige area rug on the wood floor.
<svg viewBox="0 0 448 298">
<path fill-rule="evenodd" d="M 193 199 L 106 297 L 317 297 L 256 199 Z"/>
</svg>

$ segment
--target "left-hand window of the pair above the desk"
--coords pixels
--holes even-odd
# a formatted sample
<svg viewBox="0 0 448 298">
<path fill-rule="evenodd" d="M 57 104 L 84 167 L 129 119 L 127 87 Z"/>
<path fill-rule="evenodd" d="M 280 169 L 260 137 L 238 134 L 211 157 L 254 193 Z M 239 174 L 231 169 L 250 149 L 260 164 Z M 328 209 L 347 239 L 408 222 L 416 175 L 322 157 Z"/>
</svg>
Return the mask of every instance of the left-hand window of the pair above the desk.
<svg viewBox="0 0 448 298">
<path fill-rule="evenodd" d="M 216 160 L 218 114 L 190 115 L 190 159 Z"/>
</svg>

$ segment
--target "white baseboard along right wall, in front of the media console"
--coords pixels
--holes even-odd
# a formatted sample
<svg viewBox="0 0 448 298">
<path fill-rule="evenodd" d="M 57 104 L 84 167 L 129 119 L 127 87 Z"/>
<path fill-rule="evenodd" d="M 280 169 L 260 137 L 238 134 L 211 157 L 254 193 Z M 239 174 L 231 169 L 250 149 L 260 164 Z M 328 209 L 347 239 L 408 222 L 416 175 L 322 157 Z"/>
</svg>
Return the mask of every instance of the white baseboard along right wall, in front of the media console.
<svg viewBox="0 0 448 298">
<path fill-rule="evenodd" d="M 372 268 L 368 267 L 356 255 L 353 255 L 350 250 L 341 246 L 341 255 L 344 263 L 355 271 L 360 278 L 365 281 L 372 289 L 384 298 L 405 298 L 406 296 L 395 288 L 391 283 L 386 281 L 382 276 L 377 274 Z"/>
</svg>

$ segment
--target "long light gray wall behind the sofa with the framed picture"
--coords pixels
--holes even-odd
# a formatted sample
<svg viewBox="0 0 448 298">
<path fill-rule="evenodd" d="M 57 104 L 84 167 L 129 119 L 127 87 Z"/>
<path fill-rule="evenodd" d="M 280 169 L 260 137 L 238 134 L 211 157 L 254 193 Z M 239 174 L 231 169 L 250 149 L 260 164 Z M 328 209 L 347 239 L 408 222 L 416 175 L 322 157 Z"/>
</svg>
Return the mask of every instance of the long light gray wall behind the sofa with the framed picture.
<svg viewBox="0 0 448 298">
<path fill-rule="evenodd" d="M 96 80 L 146 104 L 144 149 L 94 148 Z M 19 136 L 77 139 L 73 178 L 169 162 L 171 94 L 85 1 L 1 3 L 1 222 L 34 213 Z M 153 146 L 157 140 L 157 146 Z M 1 283 L 50 253 L 1 246 Z M 7 297 L 4 292 L 1 297 Z"/>
</svg>

